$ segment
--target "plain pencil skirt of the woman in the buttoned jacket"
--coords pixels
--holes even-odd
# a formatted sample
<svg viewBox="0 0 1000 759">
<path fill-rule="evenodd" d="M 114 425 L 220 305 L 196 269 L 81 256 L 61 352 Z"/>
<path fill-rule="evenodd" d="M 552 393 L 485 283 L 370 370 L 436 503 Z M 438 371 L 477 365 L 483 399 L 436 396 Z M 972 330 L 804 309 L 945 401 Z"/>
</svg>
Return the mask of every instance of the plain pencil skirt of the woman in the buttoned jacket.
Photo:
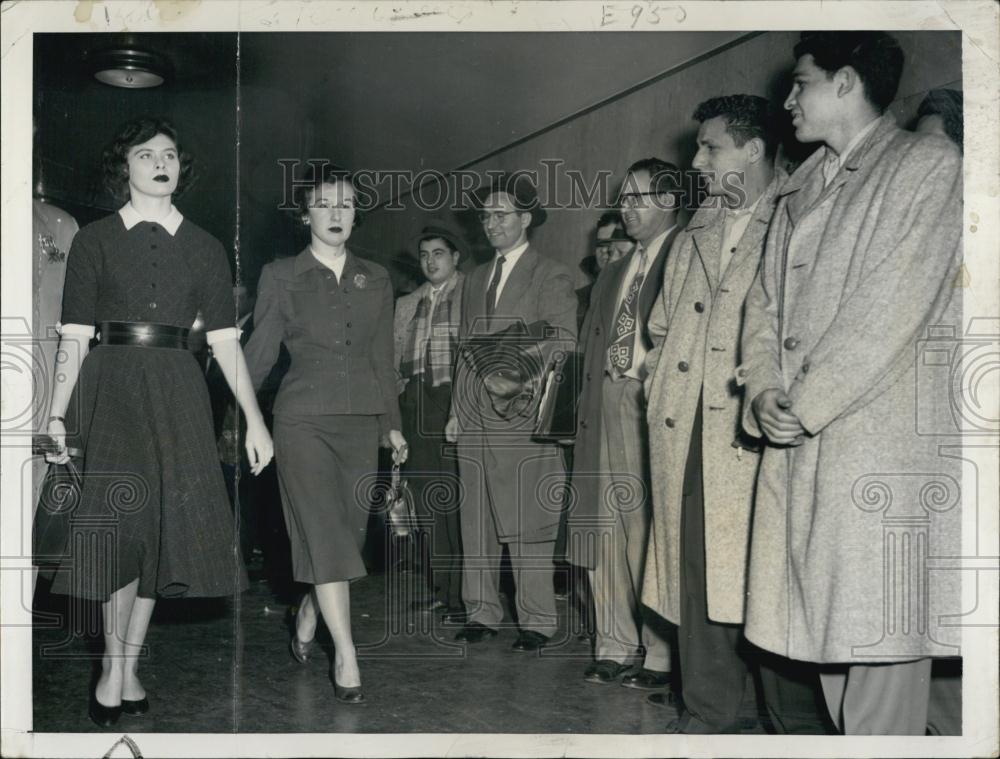
<svg viewBox="0 0 1000 759">
<path fill-rule="evenodd" d="M 350 414 L 276 415 L 274 458 L 297 582 L 367 574 L 365 543 L 378 468 L 378 423 Z"/>
</svg>

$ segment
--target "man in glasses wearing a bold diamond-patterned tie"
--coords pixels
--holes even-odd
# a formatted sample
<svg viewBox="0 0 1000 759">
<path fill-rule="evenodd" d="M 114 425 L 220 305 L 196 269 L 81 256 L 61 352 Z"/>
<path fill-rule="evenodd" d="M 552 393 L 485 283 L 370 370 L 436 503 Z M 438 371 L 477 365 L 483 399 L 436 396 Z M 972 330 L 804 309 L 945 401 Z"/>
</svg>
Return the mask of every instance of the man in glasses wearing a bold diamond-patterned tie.
<svg viewBox="0 0 1000 759">
<path fill-rule="evenodd" d="M 635 248 L 594 285 L 580 333 L 584 370 L 577 411 L 570 560 L 586 567 L 594 599 L 593 683 L 658 690 L 669 683 L 667 625 L 639 603 L 649 534 L 649 455 L 642 384 L 646 321 L 678 232 L 679 170 L 659 158 L 633 163 L 621 194 Z M 623 677 L 624 675 L 624 677 Z"/>
</svg>

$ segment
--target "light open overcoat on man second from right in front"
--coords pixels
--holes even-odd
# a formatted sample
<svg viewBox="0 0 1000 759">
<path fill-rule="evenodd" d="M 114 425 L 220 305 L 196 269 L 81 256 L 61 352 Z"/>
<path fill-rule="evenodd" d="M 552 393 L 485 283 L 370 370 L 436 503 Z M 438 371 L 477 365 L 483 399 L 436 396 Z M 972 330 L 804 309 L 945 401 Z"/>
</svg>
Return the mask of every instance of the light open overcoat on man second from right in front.
<svg viewBox="0 0 1000 759">
<path fill-rule="evenodd" d="M 648 325 L 647 354 L 653 519 L 642 602 L 681 619 L 681 503 L 698 399 L 702 406 L 705 570 L 708 615 L 743 621 L 750 512 L 760 441 L 740 427 L 743 301 L 753 283 L 774 211 L 776 184 L 761 196 L 720 276 L 725 211 L 700 209 L 674 242 Z M 704 393 L 702 388 L 704 387 Z"/>
</svg>

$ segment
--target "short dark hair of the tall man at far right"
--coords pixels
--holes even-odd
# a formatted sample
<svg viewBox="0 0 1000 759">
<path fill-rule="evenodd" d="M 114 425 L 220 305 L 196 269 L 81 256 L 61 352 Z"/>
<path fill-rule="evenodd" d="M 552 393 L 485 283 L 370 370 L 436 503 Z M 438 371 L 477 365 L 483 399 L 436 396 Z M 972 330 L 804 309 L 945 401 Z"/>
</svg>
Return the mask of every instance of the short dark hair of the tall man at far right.
<svg viewBox="0 0 1000 759">
<path fill-rule="evenodd" d="M 828 77 L 844 66 L 858 72 L 865 97 L 880 113 L 896 97 L 903 49 L 885 32 L 802 32 L 795 60 L 804 55 L 811 55 Z"/>
</svg>

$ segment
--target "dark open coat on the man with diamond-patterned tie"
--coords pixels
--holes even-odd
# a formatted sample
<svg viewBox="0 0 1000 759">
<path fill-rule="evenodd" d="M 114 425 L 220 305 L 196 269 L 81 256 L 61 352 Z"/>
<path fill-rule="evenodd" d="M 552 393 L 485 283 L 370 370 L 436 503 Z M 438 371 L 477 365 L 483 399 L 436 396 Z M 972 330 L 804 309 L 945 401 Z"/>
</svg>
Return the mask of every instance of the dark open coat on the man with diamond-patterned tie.
<svg viewBox="0 0 1000 759">
<path fill-rule="evenodd" d="M 660 249 L 653 254 L 649 270 L 643 279 L 642 289 L 639 291 L 637 317 L 640 339 L 647 349 L 652 343 L 646 332 L 646 322 L 660 292 L 667 253 L 679 231 L 679 225 L 674 227 L 664 238 Z M 601 508 L 604 499 L 598 482 L 601 469 L 601 444 L 604 439 L 601 426 L 602 384 L 604 368 L 608 361 L 608 348 L 614 340 L 618 293 L 634 255 L 635 251 L 609 264 L 601 272 L 591 292 L 590 308 L 587 310 L 580 332 L 578 350 L 583 354 L 583 376 L 577 405 L 576 446 L 573 451 L 575 498 L 567 514 L 567 526 L 571 535 L 574 532 L 592 531 L 595 519 L 604 515 Z M 580 566 L 593 567 L 596 557 L 586 550 L 589 543 L 587 540 L 571 540 L 570 561 Z"/>
</svg>

